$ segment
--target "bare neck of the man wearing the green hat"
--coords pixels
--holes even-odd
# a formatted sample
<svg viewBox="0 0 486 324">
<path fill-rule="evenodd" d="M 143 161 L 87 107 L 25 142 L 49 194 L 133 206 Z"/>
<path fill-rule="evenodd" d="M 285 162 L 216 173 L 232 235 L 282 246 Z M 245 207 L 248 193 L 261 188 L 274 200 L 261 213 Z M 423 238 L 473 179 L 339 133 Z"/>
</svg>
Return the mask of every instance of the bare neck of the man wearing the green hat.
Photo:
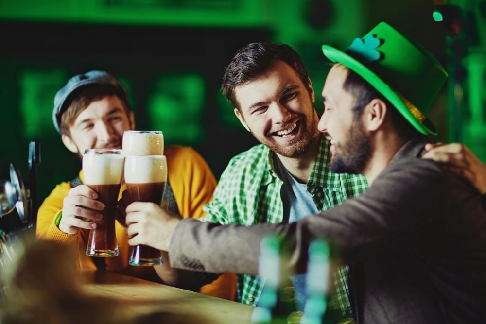
<svg viewBox="0 0 486 324">
<path fill-rule="evenodd" d="M 370 143 L 371 156 L 363 169 L 363 174 L 370 186 L 405 142 L 406 140 L 396 132 L 381 131 L 374 136 Z"/>
</svg>

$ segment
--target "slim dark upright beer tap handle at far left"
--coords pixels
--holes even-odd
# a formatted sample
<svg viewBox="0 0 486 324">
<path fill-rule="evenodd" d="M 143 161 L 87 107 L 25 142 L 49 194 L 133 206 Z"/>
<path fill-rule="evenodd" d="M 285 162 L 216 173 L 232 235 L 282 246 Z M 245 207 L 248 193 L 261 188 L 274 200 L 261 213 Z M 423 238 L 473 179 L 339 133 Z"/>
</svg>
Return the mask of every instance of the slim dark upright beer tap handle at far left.
<svg viewBox="0 0 486 324">
<path fill-rule="evenodd" d="M 30 210 L 29 227 L 35 227 L 37 222 L 37 210 L 39 208 L 39 193 L 37 187 L 37 165 L 40 163 L 40 143 L 32 140 L 29 143 L 29 188 Z"/>
</svg>

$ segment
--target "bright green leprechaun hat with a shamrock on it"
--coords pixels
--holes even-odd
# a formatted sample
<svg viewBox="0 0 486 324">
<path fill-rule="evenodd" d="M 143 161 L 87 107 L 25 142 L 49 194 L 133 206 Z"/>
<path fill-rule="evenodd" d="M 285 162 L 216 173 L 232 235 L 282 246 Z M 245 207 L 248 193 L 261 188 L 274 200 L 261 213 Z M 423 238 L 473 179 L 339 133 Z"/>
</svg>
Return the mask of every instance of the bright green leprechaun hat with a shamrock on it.
<svg viewBox="0 0 486 324">
<path fill-rule="evenodd" d="M 322 51 L 373 85 L 420 133 L 437 134 L 425 114 L 447 72 L 417 40 L 381 22 L 345 52 L 328 45 Z"/>
</svg>

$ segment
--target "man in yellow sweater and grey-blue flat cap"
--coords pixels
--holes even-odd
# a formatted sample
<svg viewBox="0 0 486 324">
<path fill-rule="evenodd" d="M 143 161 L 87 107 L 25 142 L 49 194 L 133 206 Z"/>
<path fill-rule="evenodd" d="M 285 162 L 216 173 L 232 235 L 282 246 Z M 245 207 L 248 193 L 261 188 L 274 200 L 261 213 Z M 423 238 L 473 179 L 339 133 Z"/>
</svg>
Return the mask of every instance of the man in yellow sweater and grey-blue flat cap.
<svg viewBox="0 0 486 324">
<path fill-rule="evenodd" d="M 86 149 L 121 149 L 123 132 L 135 129 L 125 87 L 105 71 L 89 71 L 69 79 L 54 98 L 52 118 L 69 151 L 82 157 Z M 216 180 L 206 161 L 190 147 L 168 146 L 168 185 L 164 197 L 169 209 L 182 218 L 205 216 L 202 210 L 216 187 Z M 128 264 L 129 245 L 125 228 L 116 223 L 120 255 L 95 258 L 87 256 L 89 229 L 101 217 L 104 205 L 96 200 L 97 193 L 83 184 L 79 177 L 57 185 L 44 200 L 37 215 L 36 236 L 76 247 L 78 265 L 82 269 L 98 269 L 123 273 L 152 281 L 172 281 L 175 275 L 169 262 L 154 267 L 134 267 Z M 125 189 L 122 184 L 121 192 Z M 164 259 L 168 260 L 164 252 Z M 176 276 L 176 275 L 175 275 Z M 234 299 L 236 278 L 227 274 L 201 292 Z"/>
</svg>

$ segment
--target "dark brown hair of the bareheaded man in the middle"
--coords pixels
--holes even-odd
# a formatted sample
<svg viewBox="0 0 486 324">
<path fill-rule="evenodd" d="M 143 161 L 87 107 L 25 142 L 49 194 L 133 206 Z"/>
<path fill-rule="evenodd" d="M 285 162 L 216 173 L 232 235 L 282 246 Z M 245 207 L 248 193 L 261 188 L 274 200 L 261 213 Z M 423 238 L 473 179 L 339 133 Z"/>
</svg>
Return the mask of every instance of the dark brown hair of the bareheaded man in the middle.
<svg viewBox="0 0 486 324">
<path fill-rule="evenodd" d="M 237 51 L 225 68 L 221 91 L 240 110 L 235 88 L 259 78 L 273 68 L 277 61 L 283 61 L 293 68 L 310 91 L 309 75 L 299 54 L 289 45 L 281 43 L 250 43 Z"/>
</svg>

